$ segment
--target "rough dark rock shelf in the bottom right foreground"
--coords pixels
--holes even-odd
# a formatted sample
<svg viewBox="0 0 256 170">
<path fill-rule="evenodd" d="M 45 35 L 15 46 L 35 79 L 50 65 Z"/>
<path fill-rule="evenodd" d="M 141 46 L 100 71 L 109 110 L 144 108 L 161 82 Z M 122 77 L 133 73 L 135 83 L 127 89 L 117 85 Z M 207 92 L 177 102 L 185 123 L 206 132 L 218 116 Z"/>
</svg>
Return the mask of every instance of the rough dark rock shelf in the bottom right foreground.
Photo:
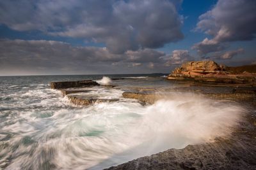
<svg viewBox="0 0 256 170">
<path fill-rule="evenodd" d="M 108 169 L 256 169 L 256 143 L 250 135 L 255 133 L 237 132 L 232 139 L 170 149 Z"/>
</svg>

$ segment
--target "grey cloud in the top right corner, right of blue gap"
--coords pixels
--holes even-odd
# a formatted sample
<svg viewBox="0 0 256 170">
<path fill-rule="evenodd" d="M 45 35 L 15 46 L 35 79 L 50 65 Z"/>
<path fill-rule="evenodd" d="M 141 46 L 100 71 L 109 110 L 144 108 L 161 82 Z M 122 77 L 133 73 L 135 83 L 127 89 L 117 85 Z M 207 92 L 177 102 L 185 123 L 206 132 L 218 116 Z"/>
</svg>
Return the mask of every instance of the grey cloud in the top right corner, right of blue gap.
<svg viewBox="0 0 256 170">
<path fill-rule="evenodd" d="M 193 46 L 200 55 L 221 51 L 228 42 L 252 40 L 256 34 L 256 1 L 219 0 L 199 17 L 196 30 L 212 36 Z"/>
</svg>

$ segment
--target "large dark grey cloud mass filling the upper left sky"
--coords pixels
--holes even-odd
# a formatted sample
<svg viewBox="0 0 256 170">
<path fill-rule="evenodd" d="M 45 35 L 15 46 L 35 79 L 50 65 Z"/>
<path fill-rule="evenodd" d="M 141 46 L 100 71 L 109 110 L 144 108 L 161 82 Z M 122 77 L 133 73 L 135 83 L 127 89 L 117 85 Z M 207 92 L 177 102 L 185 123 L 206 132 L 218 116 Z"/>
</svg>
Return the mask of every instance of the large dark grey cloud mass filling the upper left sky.
<svg viewBox="0 0 256 170">
<path fill-rule="evenodd" d="M 111 53 L 158 48 L 183 38 L 180 1 L 1 1 L 0 23 L 17 31 L 106 43 Z"/>
</svg>

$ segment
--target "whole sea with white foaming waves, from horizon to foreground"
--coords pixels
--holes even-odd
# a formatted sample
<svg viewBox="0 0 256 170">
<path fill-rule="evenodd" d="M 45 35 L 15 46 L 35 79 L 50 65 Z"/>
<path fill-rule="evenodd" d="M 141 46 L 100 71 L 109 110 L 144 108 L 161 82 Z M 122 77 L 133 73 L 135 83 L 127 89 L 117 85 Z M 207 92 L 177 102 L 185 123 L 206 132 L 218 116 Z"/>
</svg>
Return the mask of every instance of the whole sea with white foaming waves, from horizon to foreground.
<svg viewBox="0 0 256 170">
<path fill-rule="evenodd" d="M 81 95 L 118 101 L 76 106 L 49 85 L 72 80 L 115 85 L 88 87 Z M 0 76 L 0 169 L 117 166 L 170 148 L 228 138 L 246 112 L 234 101 L 163 92 L 177 87 L 184 85 L 164 74 Z M 122 97 L 141 88 L 166 94 L 154 104 Z"/>
</svg>

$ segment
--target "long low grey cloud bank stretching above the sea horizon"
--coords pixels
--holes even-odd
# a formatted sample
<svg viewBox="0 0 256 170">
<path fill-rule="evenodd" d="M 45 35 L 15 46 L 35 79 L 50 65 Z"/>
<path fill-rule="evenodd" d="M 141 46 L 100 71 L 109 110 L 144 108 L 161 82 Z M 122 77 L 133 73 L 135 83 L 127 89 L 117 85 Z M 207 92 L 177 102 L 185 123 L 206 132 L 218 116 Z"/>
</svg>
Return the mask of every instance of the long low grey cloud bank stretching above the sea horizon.
<svg viewBox="0 0 256 170">
<path fill-rule="evenodd" d="M 144 49 L 113 54 L 107 48 L 72 46 L 60 41 L 46 40 L 0 40 L 0 72 L 26 70 L 30 73 L 125 73 L 128 66 L 148 71 L 148 64 L 163 64 L 165 53 Z M 149 58 L 148 58 L 149 57 Z M 130 70 L 131 71 L 131 70 Z M 19 72 L 18 72 L 19 73 Z M 119 73 L 119 72 L 118 72 Z"/>
</svg>

